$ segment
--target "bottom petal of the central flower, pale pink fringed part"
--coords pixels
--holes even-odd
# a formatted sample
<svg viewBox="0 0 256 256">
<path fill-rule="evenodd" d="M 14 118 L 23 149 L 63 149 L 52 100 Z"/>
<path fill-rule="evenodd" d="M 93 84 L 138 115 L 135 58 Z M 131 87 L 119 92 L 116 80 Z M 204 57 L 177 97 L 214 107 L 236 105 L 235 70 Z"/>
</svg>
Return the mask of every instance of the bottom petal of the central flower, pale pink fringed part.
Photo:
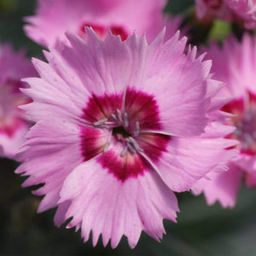
<svg viewBox="0 0 256 256">
<path fill-rule="evenodd" d="M 162 219 L 175 221 L 177 199 L 152 172 L 143 177 L 118 181 L 96 160 L 78 166 L 61 189 L 61 201 L 72 201 L 66 218 L 70 226 L 81 223 L 84 241 L 93 234 L 96 245 L 100 234 L 106 246 L 116 247 L 123 235 L 135 247 L 142 230 L 159 240 L 165 232 Z M 81 207 L 82 206 L 82 207 Z"/>
</svg>

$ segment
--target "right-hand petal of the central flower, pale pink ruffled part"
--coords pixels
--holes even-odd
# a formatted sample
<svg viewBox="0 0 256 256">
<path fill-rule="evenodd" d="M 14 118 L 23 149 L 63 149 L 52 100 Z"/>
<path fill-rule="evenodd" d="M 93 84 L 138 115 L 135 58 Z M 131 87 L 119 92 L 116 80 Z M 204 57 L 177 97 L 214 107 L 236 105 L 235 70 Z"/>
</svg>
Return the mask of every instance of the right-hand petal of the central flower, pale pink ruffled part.
<svg viewBox="0 0 256 256">
<path fill-rule="evenodd" d="M 236 141 L 220 138 L 228 133 L 229 127 L 209 126 L 201 137 L 172 137 L 166 152 L 155 162 L 157 172 L 170 189 L 177 192 L 189 190 L 198 179 L 208 172 L 218 169 L 226 171 L 226 162 L 236 157 L 236 149 L 226 149 L 237 144 Z M 219 127 L 218 127 L 219 126 Z M 211 160 L 210 160 L 211 159 Z"/>
</svg>

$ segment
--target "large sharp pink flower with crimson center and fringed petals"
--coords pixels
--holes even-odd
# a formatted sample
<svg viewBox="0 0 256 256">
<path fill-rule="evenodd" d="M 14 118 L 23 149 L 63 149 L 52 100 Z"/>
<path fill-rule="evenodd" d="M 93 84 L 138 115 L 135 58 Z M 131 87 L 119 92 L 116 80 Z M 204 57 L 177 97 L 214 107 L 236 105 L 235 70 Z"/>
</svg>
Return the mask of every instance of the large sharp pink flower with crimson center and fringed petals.
<svg viewBox="0 0 256 256">
<path fill-rule="evenodd" d="M 33 60 L 41 79 L 26 79 L 33 102 L 26 114 L 37 122 L 28 132 L 24 186 L 44 183 L 38 212 L 58 206 L 55 224 L 72 218 L 93 244 L 116 247 L 123 235 L 135 247 L 144 230 L 160 240 L 163 218 L 176 221 L 181 192 L 234 156 L 224 136 L 230 127 L 213 121 L 222 87 L 207 79 L 211 61 L 184 55 L 186 38 L 152 44 L 134 33 L 104 41 L 86 29 L 87 40 L 69 43 Z M 209 122 L 209 117 L 212 121 Z"/>
</svg>

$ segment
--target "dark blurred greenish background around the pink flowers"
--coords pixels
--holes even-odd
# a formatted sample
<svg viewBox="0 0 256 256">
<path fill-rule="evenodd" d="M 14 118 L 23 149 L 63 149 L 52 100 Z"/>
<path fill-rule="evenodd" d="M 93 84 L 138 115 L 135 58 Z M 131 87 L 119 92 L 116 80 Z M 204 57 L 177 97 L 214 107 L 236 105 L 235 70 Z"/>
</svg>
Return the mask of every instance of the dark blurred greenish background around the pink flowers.
<svg viewBox="0 0 256 256">
<path fill-rule="evenodd" d="M 166 12 L 187 16 L 192 22 L 192 0 L 172 0 Z M 28 56 L 42 56 L 41 47 L 26 38 L 22 17 L 32 15 L 34 0 L 0 0 L 0 41 L 11 42 L 16 49 L 27 48 Z M 192 15 L 193 16 L 193 15 Z M 203 42 L 204 26 L 196 24 L 190 30 L 191 42 Z M 220 26 L 212 35 L 224 32 Z M 33 188 L 21 189 L 24 177 L 15 175 L 15 161 L 0 159 L 0 254 L 36 255 L 256 255 L 256 190 L 241 188 L 234 209 L 219 204 L 207 207 L 204 197 L 189 193 L 177 195 L 180 213 L 177 224 L 165 221 L 166 236 L 161 243 L 143 233 L 133 250 L 125 238 L 116 249 L 102 247 L 102 241 L 92 247 L 80 239 L 80 231 L 56 228 L 55 209 L 38 214 L 40 197 Z"/>
</svg>

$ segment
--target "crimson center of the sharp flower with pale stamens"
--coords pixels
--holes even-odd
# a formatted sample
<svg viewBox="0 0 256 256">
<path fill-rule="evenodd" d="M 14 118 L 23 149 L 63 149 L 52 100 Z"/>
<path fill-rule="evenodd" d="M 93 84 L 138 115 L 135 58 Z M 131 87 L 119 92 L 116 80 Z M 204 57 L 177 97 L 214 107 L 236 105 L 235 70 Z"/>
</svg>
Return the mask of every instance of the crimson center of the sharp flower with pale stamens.
<svg viewBox="0 0 256 256">
<path fill-rule="evenodd" d="M 166 151 L 170 136 L 160 134 L 154 96 L 127 89 L 124 95 L 91 96 L 84 108 L 81 149 L 84 161 L 97 161 L 122 182 L 143 175 Z"/>
</svg>

